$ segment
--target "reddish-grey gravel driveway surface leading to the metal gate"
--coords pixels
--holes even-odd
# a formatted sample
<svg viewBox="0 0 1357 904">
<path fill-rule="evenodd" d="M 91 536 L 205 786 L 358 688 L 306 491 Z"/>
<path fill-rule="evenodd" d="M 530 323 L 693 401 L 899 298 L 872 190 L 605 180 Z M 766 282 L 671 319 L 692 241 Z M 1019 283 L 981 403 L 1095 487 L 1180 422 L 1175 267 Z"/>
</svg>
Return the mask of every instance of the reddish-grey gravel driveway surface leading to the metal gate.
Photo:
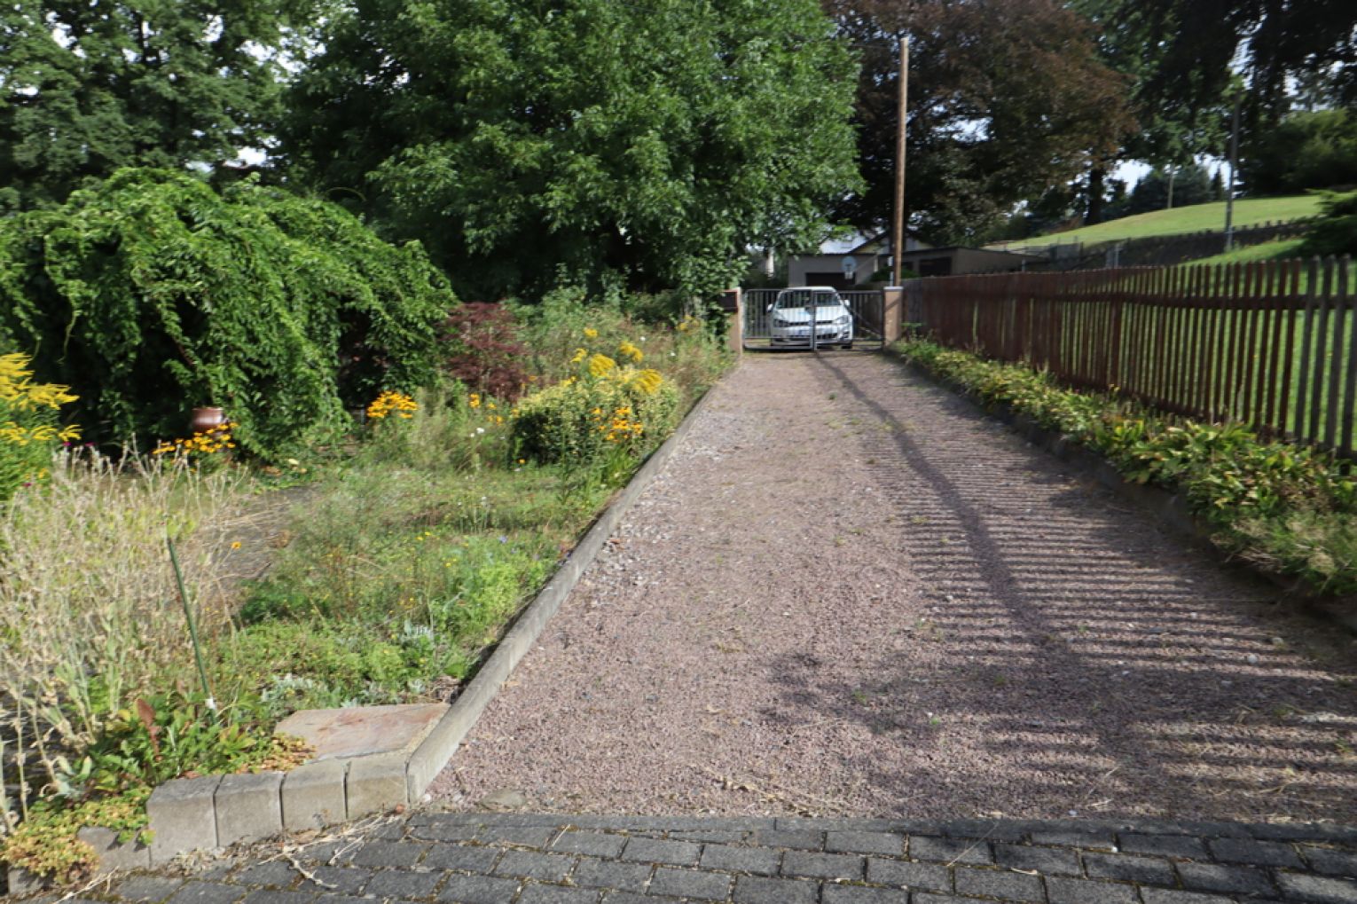
<svg viewBox="0 0 1357 904">
<path fill-rule="evenodd" d="M 1357 823 L 1357 649 L 882 356 L 745 356 L 430 789 Z"/>
</svg>

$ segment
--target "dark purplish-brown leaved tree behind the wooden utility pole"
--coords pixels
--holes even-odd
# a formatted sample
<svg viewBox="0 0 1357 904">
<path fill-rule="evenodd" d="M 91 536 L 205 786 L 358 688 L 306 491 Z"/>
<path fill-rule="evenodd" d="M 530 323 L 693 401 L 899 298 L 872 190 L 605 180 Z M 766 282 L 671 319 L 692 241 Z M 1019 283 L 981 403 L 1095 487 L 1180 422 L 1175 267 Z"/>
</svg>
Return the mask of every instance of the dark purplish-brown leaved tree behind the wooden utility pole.
<svg viewBox="0 0 1357 904">
<path fill-rule="evenodd" d="M 897 53 L 909 35 L 912 223 L 938 240 L 988 232 L 1015 202 L 1083 172 L 1130 128 L 1124 79 L 1058 0 L 825 0 L 863 54 L 858 151 L 866 193 L 843 205 L 889 221 Z"/>
</svg>

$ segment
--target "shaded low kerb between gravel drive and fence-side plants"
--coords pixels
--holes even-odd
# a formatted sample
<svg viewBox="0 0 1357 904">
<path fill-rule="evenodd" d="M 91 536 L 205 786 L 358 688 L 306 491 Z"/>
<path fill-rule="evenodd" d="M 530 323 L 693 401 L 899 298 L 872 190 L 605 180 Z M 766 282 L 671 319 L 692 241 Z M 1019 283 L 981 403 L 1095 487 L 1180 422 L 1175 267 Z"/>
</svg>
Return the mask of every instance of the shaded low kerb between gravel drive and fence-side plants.
<svg viewBox="0 0 1357 904">
<path fill-rule="evenodd" d="M 1301 603 L 1305 608 L 1323 618 L 1333 619 L 1342 624 L 1346 630 L 1357 634 L 1357 614 L 1345 611 L 1337 605 L 1329 605 L 1326 600 L 1310 596 L 1299 580 L 1286 578 L 1284 576 L 1254 567 L 1251 563 L 1242 562 L 1224 552 L 1212 542 L 1215 531 L 1210 524 L 1193 513 L 1183 495 L 1158 486 L 1132 483 L 1101 455 L 1079 445 L 1058 430 L 1044 428 L 1031 418 L 1014 411 L 1012 407 L 1007 404 L 985 404 L 965 385 L 932 373 L 927 368 L 915 364 L 905 357 L 904 353 L 889 345 L 885 346 L 885 349 L 887 354 L 900 361 L 904 366 L 909 368 L 913 373 L 917 373 L 930 383 L 950 390 L 973 403 L 980 411 L 984 411 L 988 417 L 1007 425 L 1018 436 L 1027 440 L 1034 447 L 1053 455 L 1065 464 L 1069 464 L 1080 474 L 1098 481 L 1098 483 L 1107 487 L 1122 500 L 1126 500 L 1155 517 L 1160 525 L 1172 531 L 1175 535 L 1190 540 L 1204 552 L 1212 555 L 1221 563 L 1239 567 L 1254 577 L 1262 578 L 1278 586 L 1288 596 Z"/>
</svg>

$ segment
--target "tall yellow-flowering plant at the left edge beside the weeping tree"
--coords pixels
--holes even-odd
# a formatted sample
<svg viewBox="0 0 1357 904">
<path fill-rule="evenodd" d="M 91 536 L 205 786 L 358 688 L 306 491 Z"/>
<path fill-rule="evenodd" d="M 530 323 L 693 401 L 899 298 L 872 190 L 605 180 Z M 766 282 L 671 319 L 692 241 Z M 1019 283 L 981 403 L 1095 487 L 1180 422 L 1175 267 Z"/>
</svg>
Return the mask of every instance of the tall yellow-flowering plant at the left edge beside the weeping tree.
<svg viewBox="0 0 1357 904">
<path fill-rule="evenodd" d="M 0 354 L 0 502 L 46 481 L 53 451 L 80 437 L 79 428 L 57 421 L 61 406 L 75 400 L 64 385 L 34 383 L 26 354 Z"/>
</svg>

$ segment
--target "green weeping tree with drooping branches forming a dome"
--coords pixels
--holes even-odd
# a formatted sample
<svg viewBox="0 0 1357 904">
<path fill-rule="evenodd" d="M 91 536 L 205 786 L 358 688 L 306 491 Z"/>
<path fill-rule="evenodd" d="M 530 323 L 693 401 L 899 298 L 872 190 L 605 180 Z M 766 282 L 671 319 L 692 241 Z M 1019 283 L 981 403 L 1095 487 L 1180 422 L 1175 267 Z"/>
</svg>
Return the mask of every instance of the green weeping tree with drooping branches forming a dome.
<svg viewBox="0 0 1357 904">
<path fill-rule="evenodd" d="M 455 304 L 418 244 L 250 181 L 122 170 L 0 221 L 0 331 L 102 442 L 180 436 L 208 404 L 258 455 L 324 441 L 346 406 L 432 377 Z"/>
</svg>

